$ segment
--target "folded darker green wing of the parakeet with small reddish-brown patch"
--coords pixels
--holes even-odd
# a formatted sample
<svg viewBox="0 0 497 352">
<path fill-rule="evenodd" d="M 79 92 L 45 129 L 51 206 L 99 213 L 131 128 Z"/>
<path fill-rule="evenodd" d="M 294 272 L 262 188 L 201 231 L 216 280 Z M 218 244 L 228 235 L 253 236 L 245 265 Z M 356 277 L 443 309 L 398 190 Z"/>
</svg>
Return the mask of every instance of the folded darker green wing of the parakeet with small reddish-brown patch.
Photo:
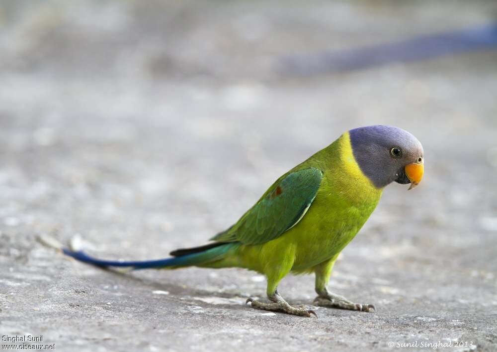
<svg viewBox="0 0 497 352">
<path fill-rule="evenodd" d="M 260 244 L 279 237 L 305 215 L 322 179 L 323 173 L 315 167 L 289 173 L 276 181 L 238 223 L 211 240 Z"/>
</svg>

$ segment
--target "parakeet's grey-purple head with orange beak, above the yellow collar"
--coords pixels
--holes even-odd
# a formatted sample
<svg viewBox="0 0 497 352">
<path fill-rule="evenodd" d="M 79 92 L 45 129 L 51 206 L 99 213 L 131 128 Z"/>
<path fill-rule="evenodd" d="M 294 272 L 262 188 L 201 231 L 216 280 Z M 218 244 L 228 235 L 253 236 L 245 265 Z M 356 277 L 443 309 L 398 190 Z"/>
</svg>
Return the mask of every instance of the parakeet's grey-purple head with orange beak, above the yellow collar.
<svg viewBox="0 0 497 352">
<path fill-rule="evenodd" d="M 355 160 L 377 188 L 392 182 L 416 186 L 423 176 L 423 147 L 402 128 L 374 125 L 349 131 Z"/>
</svg>

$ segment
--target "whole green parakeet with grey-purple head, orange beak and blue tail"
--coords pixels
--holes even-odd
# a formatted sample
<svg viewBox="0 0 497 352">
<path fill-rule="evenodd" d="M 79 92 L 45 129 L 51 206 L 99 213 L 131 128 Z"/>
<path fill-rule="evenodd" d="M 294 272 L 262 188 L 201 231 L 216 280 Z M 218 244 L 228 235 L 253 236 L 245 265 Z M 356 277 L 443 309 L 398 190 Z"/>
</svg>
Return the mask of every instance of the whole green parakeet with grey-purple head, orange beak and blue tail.
<svg viewBox="0 0 497 352">
<path fill-rule="evenodd" d="M 423 176 L 421 143 L 409 132 L 387 125 L 351 129 L 326 148 L 278 178 L 240 220 L 211 238 L 212 243 L 177 249 L 151 261 L 109 261 L 64 248 L 65 254 L 101 267 L 132 269 L 187 266 L 240 267 L 267 278 L 270 303 L 249 298 L 253 308 L 298 316 L 316 315 L 293 307 L 278 293 L 288 273 L 316 275 L 314 304 L 372 311 L 328 291 L 333 264 L 392 182 L 415 187 Z"/>
</svg>

